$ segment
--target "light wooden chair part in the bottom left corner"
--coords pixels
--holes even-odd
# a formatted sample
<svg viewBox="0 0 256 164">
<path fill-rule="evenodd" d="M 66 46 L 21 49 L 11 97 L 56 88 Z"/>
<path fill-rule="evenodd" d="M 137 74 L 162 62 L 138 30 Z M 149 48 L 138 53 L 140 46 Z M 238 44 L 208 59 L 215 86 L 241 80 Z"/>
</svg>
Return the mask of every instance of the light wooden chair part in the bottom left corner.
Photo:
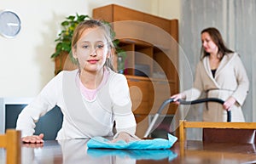
<svg viewBox="0 0 256 164">
<path fill-rule="evenodd" d="M 0 148 L 4 148 L 6 150 L 6 164 L 20 164 L 20 131 L 15 129 L 7 129 L 5 134 L 1 134 Z"/>
</svg>

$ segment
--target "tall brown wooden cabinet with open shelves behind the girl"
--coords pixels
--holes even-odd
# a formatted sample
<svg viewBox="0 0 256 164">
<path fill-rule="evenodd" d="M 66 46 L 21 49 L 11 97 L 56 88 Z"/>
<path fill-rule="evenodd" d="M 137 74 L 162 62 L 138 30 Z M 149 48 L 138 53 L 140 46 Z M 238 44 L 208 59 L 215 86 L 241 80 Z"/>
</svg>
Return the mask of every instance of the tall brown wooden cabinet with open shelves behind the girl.
<svg viewBox="0 0 256 164">
<path fill-rule="evenodd" d="M 116 4 L 94 8 L 93 18 L 112 22 L 119 46 L 127 54 L 124 73 L 132 110 L 137 122 L 145 121 L 148 114 L 154 114 L 164 100 L 179 91 L 177 20 Z M 177 105 L 169 105 L 164 112 L 174 114 L 176 109 Z"/>
</svg>

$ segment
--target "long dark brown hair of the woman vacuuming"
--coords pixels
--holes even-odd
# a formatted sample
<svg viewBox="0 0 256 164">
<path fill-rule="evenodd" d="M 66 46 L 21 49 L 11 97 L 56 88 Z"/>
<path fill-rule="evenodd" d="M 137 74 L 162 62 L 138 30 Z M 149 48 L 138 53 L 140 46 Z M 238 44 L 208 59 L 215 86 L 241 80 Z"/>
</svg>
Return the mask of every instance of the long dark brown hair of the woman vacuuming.
<svg viewBox="0 0 256 164">
<path fill-rule="evenodd" d="M 210 37 L 212 38 L 212 42 L 214 42 L 218 46 L 218 59 L 223 59 L 225 54 L 229 53 L 234 53 L 234 51 L 230 50 L 227 48 L 224 44 L 224 40 L 221 37 L 220 32 L 214 28 L 214 27 L 209 27 L 201 31 L 201 34 L 207 32 Z M 209 56 L 210 54 L 205 51 L 203 46 L 201 46 L 201 59 L 203 59 L 206 56 Z"/>
</svg>

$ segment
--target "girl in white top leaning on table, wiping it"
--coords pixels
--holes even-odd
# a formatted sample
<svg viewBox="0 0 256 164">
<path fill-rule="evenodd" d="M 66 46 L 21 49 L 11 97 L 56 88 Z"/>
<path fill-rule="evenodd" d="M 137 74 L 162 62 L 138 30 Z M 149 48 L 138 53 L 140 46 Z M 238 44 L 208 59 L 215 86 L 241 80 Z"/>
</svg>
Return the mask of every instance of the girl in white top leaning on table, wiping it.
<svg viewBox="0 0 256 164">
<path fill-rule="evenodd" d="M 43 143 L 44 134 L 33 135 L 35 122 L 55 105 L 61 108 L 63 123 L 56 139 L 112 136 L 113 142 L 137 139 L 136 121 L 125 76 L 112 69 L 111 29 L 99 20 L 80 23 L 72 41 L 73 57 L 79 69 L 61 71 L 21 111 L 17 130 L 22 141 Z"/>
</svg>

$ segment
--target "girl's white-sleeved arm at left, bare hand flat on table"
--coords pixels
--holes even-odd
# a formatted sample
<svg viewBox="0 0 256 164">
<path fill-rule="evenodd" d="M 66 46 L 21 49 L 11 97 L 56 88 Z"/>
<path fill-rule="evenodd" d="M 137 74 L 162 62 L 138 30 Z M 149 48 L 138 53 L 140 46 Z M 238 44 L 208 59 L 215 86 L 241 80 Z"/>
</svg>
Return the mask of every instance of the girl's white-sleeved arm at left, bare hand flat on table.
<svg viewBox="0 0 256 164">
<path fill-rule="evenodd" d="M 21 138 L 24 142 L 38 143 L 43 141 L 44 134 L 33 135 L 36 127 L 35 123 L 56 105 L 60 79 L 61 73 L 55 76 L 38 96 L 21 110 L 16 122 L 16 129 L 21 131 Z"/>
</svg>

